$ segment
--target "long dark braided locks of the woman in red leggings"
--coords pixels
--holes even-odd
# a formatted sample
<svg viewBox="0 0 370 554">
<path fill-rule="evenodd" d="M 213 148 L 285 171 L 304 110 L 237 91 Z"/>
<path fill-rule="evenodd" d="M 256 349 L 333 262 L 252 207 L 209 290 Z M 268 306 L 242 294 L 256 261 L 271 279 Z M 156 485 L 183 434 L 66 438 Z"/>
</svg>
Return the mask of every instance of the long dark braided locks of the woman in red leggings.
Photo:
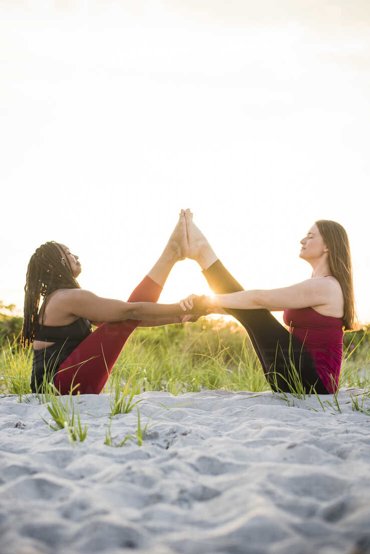
<svg viewBox="0 0 370 554">
<path fill-rule="evenodd" d="M 62 257 L 65 265 L 62 264 Z M 50 240 L 32 254 L 28 263 L 26 285 L 24 285 L 24 314 L 21 342 L 31 345 L 38 326 L 40 296 L 46 305 L 48 295 L 57 289 L 80 289 L 73 276 L 68 257 L 62 247 Z"/>
</svg>

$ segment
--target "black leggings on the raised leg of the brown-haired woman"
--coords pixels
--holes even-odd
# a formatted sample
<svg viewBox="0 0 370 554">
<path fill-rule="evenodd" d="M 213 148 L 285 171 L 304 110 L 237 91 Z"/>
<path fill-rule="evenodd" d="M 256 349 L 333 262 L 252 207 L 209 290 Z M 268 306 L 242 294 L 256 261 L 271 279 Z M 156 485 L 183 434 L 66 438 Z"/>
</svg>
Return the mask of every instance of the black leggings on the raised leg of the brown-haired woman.
<svg viewBox="0 0 370 554">
<path fill-rule="evenodd" d="M 215 261 L 202 273 L 216 294 L 229 294 L 244 290 L 220 260 Z M 292 392 L 292 388 L 295 388 L 291 359 L 300 375 L 306 393 L 309 393 L 310 389 L 313 392 L 313 387 L 315 387 L 317 394 L 329 394 L 317 375 L 315 363 L 310 354 L 302 347 L 301 342 L 293 337 L 268 310 L 227 308 L 225 311 L 240 321 L 246 329 L 260 360 L 263 373 L 273 391 Z M 291 347 L 289 346 L 290 342 Z M 279 373 L 281 375 L 278 375 Z"/>
</svg>

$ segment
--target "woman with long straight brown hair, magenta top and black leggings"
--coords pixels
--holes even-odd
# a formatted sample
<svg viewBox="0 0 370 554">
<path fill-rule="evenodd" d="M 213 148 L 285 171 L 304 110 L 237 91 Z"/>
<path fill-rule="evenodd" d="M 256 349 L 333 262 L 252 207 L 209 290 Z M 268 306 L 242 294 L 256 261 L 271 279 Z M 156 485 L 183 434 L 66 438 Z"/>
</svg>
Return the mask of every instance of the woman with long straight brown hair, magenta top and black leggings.
<svg viewBox="0 0 370 554">
<path fill-rule="evenodd" d="M 209 313 L 227 313 L 245 327 L 273 391 L 292 392 L 296 378 L 306 392 L 337 391 L 343 354 L 343 331 L 358 329 L 352 263 L 347 233 L 339 223 L 320 219 L 301 239 L 300 258 L 312 266 L 311 278 L 272 290 L 244 290 L 217 258 L 186 210 L 188 257 L 202 268 L 214 297 Z M 204 302 L 204 301 L 202 301 Z M 197 304 L 195 295 L 180 302 Z M 283 311 L 285 329 L 272 311 Z"/>
</svg>

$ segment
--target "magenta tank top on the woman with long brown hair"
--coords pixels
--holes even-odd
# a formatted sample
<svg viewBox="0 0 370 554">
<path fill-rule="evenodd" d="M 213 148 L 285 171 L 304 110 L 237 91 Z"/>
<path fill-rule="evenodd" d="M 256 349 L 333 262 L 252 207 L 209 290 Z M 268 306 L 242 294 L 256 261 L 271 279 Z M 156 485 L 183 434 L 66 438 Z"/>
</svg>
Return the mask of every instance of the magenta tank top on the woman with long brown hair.
<svg viewBox="0 0 370 554">
<path fill-rule="evenodd" d="M 327 391 L 333 394 L 332 375 L 337 392 L 343 356 L 342 318 L 322 315 L 307 307 L 284 310 L 283 320 L 292 336 L 310 353 Z"/>
</svg>

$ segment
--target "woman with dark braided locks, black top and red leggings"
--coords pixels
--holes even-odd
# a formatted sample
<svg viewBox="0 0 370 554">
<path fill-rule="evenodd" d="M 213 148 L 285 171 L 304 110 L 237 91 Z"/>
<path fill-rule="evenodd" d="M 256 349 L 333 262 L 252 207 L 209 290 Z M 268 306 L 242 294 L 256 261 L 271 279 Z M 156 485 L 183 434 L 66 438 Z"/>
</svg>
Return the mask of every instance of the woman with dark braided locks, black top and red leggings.
<svg viewBox="0 0 370 554">
<path fill-rule="evenodd" d="M 32 392 L 41 388 L 46 372 L 60 394 L 71 388 L 73 394 L 99 394 L 135 327 L 195 321 L 179 304 L 154 304 L 173 265 L 187 253 L 181 210 L 159 260 L 123 302 L 81 289 L 78 256 L 64 244 L 51 241 L 37 248 L 27 269 L 22 329 L 23 346 L 33 343 Z M 92 324 L 98 326 L 93 332 Z"/>
</svg>

